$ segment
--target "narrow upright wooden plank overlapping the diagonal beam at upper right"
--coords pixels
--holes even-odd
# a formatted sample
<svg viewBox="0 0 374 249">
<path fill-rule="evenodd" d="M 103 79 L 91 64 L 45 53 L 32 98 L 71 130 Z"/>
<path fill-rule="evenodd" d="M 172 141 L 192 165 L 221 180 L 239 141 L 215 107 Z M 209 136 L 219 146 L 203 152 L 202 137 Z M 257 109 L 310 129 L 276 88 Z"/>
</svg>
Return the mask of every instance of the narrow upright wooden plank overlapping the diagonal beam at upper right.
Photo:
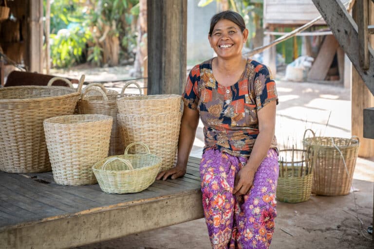
<svg viewBox="0 0 374 249">
<path fill-rule="evenodd" d="M 368 4 L 369 0 L 357 1 L 355 11 L 357 29 L 358 29 L 358 48 L 359 48 L 359 61 L 363 70 L 369 69 L 369 51 L 368 51 Z"/>
</svg>

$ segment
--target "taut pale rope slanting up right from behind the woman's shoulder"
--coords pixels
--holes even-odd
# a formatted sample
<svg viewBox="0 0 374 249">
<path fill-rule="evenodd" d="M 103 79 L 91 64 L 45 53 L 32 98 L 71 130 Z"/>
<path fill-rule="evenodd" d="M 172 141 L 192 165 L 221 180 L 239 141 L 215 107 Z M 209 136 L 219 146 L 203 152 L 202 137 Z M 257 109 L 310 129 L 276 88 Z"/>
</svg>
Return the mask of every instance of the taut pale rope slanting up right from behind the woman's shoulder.
<svg viewBox="0 0 374 249">
<path fill-rule="evenodd" d="M 344 3 L 344 6 L 347 8 L 347 11 L 350 12 L 351 11 L 351 8 L 353 6 L 353 4 L 355 3 L 355 0 L 348 0 Z M 284 36 L 281 36 L 279 37 L 278 39 L 276 39 L 275 41 L 267 44 L 267 45 L 264 45 L 264 46 L 261 46 L 261 47 L 258 47 L 258 48 L 255 48 L 254 50 L 252 51 L 249 51 L 247 53 L 244 53 L 243 55 L 245 56 L 252 56 L 254 54 L 257 54 L 257 53 L 261 53 L 262 51 L 270 48 L 270 47 L 273 47 L 275 45 L 277 45 L 278 43 L 281 43 L 282 41 L 285 41 L 293 36 L 296 36 L 296 34 L 306 30 L 307 28 L 310 28 L 314 23 L 316 23 L 320 18 L 322 18 L 322 16 L 318 16 L 317 18 L 314 18 L 313 20 L 311 20 L 310 22 L 302 25 L 301 27 L 293 30 L 292 32 L 284 35 Z"/>
</svg>

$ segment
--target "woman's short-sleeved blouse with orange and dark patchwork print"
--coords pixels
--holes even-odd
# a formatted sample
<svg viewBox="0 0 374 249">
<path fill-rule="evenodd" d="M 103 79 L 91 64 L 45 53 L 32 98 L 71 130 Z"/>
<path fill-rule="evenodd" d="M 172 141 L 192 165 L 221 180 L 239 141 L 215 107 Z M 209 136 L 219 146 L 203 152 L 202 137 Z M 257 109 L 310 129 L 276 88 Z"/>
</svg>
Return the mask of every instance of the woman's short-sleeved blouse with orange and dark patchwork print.
<svg viewBox="0 0 374 249">
<path fill-rule="evenodd" d="M 234 156 L 249 156 L 259 134 L 257 111 L 276 100 L 275 82 L 263 64 L 247 59 L 240 80 L 224 87 L 213 76 L 212 59 L 189 73 L 183 99 L 200 111 L 205 148 L 218 148 Z M 272 148 L 277 149 L 274 137 Z M 278 150 L 278 149 L 277 149 Z"/>
</svg>

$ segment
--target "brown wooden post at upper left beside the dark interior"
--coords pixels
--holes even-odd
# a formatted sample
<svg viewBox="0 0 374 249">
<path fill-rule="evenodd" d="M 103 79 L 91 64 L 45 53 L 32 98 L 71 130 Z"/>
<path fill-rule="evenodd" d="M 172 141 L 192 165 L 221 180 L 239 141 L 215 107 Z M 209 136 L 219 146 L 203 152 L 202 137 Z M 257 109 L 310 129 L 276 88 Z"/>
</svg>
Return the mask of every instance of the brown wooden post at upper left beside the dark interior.
<svg viewBox="0 0 374 249">
<path fill-rule="evenodd" d="M 42 72 L 43 54 L 43 1 L 28 1 L 28 30 L 25 50 L 25 64 L 28 71 Z"/>
</svg>

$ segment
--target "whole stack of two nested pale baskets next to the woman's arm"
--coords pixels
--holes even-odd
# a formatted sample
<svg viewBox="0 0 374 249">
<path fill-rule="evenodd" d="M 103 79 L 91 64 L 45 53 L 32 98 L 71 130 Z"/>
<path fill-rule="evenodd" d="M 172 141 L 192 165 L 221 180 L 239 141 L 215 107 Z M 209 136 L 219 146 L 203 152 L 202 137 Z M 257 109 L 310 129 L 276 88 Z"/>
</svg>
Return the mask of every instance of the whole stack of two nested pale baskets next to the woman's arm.
<svg viewBox="0 0 374 249">
<path fill-rule="evenodd" d="M 161 170 L 175 166 L 182 118 L 179 95 L 147 95 L 120 98 L 118 122 L 125 145 L 144 142 L 162 158 Z M 165 107 L 165 108 L 163 108 Z M 137 154 L 137 150 L 131 153 Z"/>
</svg>

